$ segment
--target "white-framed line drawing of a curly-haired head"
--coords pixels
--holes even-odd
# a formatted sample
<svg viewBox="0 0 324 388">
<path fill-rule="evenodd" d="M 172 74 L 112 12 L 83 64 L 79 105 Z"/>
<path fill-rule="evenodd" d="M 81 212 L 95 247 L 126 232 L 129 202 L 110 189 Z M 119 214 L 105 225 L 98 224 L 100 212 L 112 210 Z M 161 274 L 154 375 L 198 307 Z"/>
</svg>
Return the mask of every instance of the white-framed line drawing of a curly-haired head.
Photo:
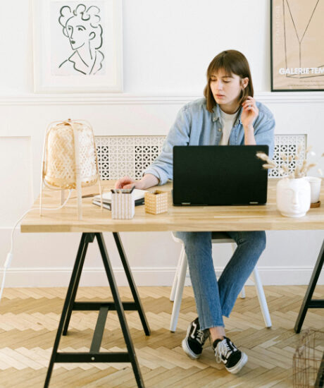
<svg viewBox="0 0 324 388">
<path fill-rule="evenodd" d="M 122 0 L 34 0 L 35 92 L 122 92 Z"/>
</svg>

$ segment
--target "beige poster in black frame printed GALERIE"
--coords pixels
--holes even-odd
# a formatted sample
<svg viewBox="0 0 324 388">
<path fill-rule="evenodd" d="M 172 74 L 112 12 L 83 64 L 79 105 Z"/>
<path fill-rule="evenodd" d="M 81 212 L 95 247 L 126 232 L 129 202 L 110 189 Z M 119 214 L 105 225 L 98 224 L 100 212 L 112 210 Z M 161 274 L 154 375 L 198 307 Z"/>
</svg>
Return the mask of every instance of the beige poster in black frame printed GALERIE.
<svg viewBox="0 0 324 388">
<path fill-rule="evenodd" d="M 323 16 L 323 0 L 271 0 L 271 91 L 324 90 Z"/>
</svg>

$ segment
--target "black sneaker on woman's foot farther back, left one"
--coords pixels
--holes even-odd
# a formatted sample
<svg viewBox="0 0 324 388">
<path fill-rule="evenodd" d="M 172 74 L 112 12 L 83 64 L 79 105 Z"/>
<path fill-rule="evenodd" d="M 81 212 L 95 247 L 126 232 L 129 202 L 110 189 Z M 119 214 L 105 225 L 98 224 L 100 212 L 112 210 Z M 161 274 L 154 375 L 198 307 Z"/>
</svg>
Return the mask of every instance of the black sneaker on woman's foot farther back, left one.
<svg viewBox="0 0 324 388">
<path fill-rule="evenodd" d="M 199 320 L 196 318 L 187 329 L 187 336 L 182 341 L 182 349 L 194 360 L 200 357 L 204 343 L 209 337 L 209 330 L 201 330 Z"/>
</svg>

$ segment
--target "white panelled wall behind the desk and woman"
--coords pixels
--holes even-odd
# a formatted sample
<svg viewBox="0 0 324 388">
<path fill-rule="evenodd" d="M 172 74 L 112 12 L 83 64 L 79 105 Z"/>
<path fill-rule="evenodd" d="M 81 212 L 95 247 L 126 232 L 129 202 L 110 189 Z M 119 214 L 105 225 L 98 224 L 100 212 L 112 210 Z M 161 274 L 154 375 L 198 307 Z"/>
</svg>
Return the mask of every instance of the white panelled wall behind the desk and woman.
<svg viewBox="0 0 324 388">
<path fill-rule="evenodd" d="M 238 49 L 251 65 L 256 99 L 268 105 L 276 133 L 306 133 L 323 152 L 324 93 L 270 93 L 270 1 L 123 1 L 124 93 L 35 95 L 32 13 L 27 0 L 0 13 L 0 265 L 11 227 L 39 193 L 44 131 L 57 119 L 84 118 L 96 135 L 165 135 L 185 102 L 200 97 L 213 56 Z M 259 262 L 264 284 L 307 284 L 323 231 L 268 232 Z M 124 284 L 113 239 L 105 235 Z M 170 284 L 180 247 L 168 233 L 124 233 L 137 284 Z M 66 285 L 80 234 L 15 232 L 8 286 Z M 111 247 L 111 248 L 110 248 Z M 223 267 L 230 247 L 214 248 Z M 323 283 L 324 279 L 321 278 Z M 106 284 L 99 251 L 89 249 L 82 284 Z"/>
</svg>

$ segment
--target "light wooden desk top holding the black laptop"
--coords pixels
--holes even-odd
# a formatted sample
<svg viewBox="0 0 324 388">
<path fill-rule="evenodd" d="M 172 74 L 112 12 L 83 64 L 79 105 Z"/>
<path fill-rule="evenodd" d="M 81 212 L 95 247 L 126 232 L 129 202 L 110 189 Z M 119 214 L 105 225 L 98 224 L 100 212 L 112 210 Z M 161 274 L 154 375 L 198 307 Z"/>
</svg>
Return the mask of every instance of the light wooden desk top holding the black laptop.
<svg viewBox="0 0 324 388">
<path fill-rule="evenodd" d="M 21 223 L 23 233 L 40 232 L 101 232 L 101 231 L 255 231 L 255 230 L 324 230 L 324 188 L 321 206 L 310 209 L 304 217 L 283 217 L 275 206 L 277 179 L 269 179 L 268 203 L 263 206 L 208 206 L 174 207 L 171 205 L 172 183 L 159 186 L 169 191 L 170 207 L 163 214 L 148 214 L 144 205 L 135 207 L 133 219 L 111 219 L 110 210 L 92 205 L 92 198 L 82 198 L 83 219 L 77 219 L 76 194 L 73 191 L 67 205 L 61 210 L 44 210 L 39 216 L 39 199 Z M 104 181 L 105 191 L 115 181 Z M 152 190 L 154 188 L 151 188 Z M 150 189 L 150 190 L 151 190 Z M 82 194 L 97 193 L 98 186 L 82 190 Z M 44 207 L 58 207 L 61 193 L 44 190 Z"/>
</svg>

